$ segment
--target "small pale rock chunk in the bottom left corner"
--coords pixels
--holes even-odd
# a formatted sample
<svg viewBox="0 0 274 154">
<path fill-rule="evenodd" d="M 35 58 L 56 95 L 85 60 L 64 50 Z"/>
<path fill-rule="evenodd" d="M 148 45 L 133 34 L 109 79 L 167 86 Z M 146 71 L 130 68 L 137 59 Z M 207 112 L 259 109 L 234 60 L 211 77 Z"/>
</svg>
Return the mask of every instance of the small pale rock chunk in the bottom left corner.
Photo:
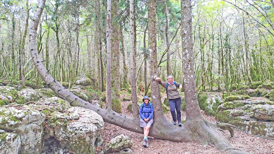
<svg viewBox="0 0 274 154">
<path fill-rule="evenodd" d="M 20 136 L 0 129 L 0 153 L 17 154 L 21 146 Z"/>
</svg>

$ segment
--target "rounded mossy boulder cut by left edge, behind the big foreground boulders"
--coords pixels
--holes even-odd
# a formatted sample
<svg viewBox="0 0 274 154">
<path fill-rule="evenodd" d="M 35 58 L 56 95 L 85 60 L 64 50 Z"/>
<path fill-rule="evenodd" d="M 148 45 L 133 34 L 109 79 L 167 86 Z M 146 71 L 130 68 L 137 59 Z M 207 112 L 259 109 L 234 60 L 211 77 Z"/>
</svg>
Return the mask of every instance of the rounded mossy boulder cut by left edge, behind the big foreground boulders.
<svg viewBox="0 0 274 154">
<path fill-rule="evenodd" d="M 15 102 L 18 98 L 18 92 L 13 87 L 0 86 L 0 101 L 4 104 Z"/>
</svg>

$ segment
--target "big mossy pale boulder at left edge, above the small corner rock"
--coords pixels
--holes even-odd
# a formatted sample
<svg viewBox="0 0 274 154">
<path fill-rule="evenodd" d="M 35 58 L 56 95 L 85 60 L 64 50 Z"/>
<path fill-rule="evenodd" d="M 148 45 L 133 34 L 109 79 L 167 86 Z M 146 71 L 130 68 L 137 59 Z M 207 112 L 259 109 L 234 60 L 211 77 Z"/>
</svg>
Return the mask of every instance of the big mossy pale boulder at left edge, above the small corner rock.
<svg viewBox="0 0 274 154">
<path fill-rule="evenodd" d="M 0 129 L 20 136 L 21 146 L 18 153 L 41 153 L 44 120 L 45 114 L 26 105 L 22 108 L 0 108 Z"/>
</svg>

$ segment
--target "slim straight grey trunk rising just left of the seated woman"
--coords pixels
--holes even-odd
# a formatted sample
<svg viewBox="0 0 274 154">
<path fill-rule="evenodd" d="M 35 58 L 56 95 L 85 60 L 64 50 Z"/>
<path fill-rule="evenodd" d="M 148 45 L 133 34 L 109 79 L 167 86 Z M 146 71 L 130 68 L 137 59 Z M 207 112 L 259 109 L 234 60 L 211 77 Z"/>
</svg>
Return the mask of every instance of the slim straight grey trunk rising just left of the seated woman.
<svg viewBox="0 0 274 154">
<path fill-rule="evenodd" d="M 134 43 L 134 0 L 129 1 L 130 12 L 130 83 L 132 96 L 132 113 L 133 118 L 138 119 L 139 111 L 137 104 L 137 88 L 136 88 L 136 66 L 135 66 L 135 43 Z"/>
</svg>

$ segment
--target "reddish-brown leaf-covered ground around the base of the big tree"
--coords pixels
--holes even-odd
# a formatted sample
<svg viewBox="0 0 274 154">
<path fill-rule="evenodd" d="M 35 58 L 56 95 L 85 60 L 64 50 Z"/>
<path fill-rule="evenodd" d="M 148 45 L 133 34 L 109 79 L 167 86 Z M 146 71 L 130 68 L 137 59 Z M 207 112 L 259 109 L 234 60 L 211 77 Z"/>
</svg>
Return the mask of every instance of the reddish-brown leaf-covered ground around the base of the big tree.
<svg viewBox="0 0 274 154">
<path fill-rule="evenodd" d="M 163 98 L 164 99 L 164 98 Z M 122 114 L 126 116 L 132 116 L 132 113 L 127 110 L 127 106 L 131 101 L 122 101 Z M 163 102 L 163 100 L 162 100 Z M 186 119 L 186 112 L 181 111 L 182 119 Z M 205 112 L 202 112 L 203 116 L 211 121 L 215 122 L 215 117 L 207 116 Z M 172 121 L 170 112 L 164 114 L 167 119 Z M 120 128 L 116 125 L 104 123 L 103 139 L 104 145 L 106 145 L 114 137 L 124 134 L 129 136 L 133 141 L 131 149 L 134 154 L 227 154 L 227 152 L 220 152 L 215 147 L 210 145 L 203 146 L 198 142 L 180 143 L 163 139 L 156 139 L 154 137 L 148 137 L 149 147 L 144 148 L 142 146 L 143 134 L 128 131 Z M 178 125 L 177 125 L 178 126 Z M 179 127 L 179 126 L 178 126 Z M 248 151 L 250 154 L 274 154 L 274 140 L 263 139 L 250 135 L 238 130 L 234 130 L 235 137 L 230 137 L 229 131 L 225 131 L 223 135 L 229 140 L 229 142 L 235 148 L 240 148 Z M 98 149 L 100 151 L 100 149 Z"/>
</svg>

